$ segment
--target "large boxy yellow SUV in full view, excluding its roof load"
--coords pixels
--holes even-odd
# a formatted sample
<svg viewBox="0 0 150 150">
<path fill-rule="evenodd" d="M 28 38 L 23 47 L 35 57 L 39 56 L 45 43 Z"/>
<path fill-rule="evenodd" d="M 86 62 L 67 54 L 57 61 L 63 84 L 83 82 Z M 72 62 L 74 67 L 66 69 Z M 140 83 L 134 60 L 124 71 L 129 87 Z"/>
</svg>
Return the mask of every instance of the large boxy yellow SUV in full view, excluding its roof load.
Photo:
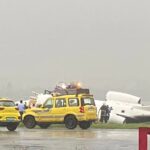
<svg viewBox="0 0 150 150">
<path fill-rule="evenodd" d="M 87 129 L 96 119 L 94 98 L 89 94 L 55 96 L 42 107 L 27 109 L 23 114 L 23 123 L 30 129 L 36 125 L 48 128 L 52 123 L 64 123 L 68 129 L 77 125 Z"/>
</svg>

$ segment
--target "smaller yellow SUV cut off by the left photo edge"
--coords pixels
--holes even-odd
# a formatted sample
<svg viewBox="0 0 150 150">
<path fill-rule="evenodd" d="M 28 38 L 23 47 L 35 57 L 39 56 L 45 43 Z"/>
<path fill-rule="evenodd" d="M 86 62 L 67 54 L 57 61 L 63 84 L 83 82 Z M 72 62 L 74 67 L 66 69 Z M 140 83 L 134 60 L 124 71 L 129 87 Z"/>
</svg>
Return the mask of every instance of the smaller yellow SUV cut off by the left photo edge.
<svg viewBox="0 0 150 150">
<path fill-rule="evenodd" d="M 5 126 L 9 131 L 16 130 L 20 122 L 20 114 L 14 101 L 0 99 L 0 126 Z"/>
</svg>

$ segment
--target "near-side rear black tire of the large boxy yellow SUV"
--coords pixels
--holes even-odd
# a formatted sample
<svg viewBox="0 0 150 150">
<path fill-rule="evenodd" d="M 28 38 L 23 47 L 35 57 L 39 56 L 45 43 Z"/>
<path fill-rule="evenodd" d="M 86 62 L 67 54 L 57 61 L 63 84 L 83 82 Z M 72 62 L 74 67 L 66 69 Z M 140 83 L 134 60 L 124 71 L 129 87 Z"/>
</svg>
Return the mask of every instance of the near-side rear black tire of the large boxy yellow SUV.
<svg viewBox="0 0 150 150">
<path fill-rule="evenodd" d="M 65 126 L 68 129 L 74 129 L 77 127 L 77 119 L 73 115 L 69 115 L 65 118 Z"/>
</svg>

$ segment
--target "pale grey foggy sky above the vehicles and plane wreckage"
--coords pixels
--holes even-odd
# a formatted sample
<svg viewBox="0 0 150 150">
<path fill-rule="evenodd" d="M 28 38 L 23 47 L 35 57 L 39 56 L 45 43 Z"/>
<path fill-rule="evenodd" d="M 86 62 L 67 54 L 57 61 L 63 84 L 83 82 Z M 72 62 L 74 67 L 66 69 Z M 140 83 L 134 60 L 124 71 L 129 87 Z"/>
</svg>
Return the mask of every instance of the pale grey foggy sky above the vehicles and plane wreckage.
<svg viewBox="0 0 150 150">
<path fill-rule="evenodd" d="M 81 81 L 150 103 L 150 2 L 0 0 L 0 96 Z"/>
</svg>

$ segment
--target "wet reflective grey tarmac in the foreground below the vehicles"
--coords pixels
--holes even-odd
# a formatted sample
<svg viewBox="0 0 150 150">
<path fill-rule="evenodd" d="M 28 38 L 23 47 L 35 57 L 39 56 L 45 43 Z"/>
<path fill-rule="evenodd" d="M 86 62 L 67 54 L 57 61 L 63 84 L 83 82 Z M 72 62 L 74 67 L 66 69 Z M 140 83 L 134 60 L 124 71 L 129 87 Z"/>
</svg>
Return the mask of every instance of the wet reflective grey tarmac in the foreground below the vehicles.
<svg viewBox="0 0 150 150">
<path fill-rule="evenodd" d="M 138 150 L 138 130 L 0 128 L 0 150 Z"/>
</svg>

